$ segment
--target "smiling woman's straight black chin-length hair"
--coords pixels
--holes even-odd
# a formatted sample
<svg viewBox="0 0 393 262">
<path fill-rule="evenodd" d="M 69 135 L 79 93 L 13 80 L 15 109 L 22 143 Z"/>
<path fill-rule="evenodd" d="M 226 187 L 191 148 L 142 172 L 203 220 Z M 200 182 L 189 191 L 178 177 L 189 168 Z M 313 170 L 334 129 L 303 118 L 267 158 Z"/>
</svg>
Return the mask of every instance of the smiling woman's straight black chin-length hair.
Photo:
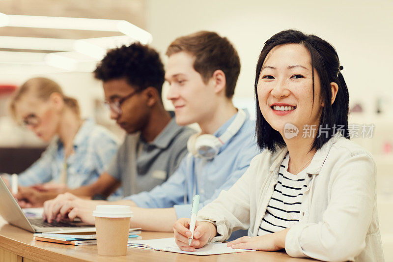
<svg viewBox="0 0 393 262">
<path fill-rule="evenodd" d="M 349 93 L 341 74 L 342 66 L 338 59 L 335 48 L 322 38 L 305 34 L 298 30 L 284 30 L 270 37 L 262 48 L 256 64 L 255 75 L 255 97 L 256 97 L 256 137 L 257 144 L 261 149 L 269 149 L 274 152 L 276 149 L 285 146 L 285 142 L 277 130 L 266 121 L 259 108 L 257 95 L 257 85 L 259 74 L 268 53 L 275 47 L 283 44 L 301 44 L 305 46 L 311 56 L 311 67 L 316 70 L 320 79 L 321 96 L 325 106 L 319 126 L 327 128 L 328 135 L 315 137 L 310 150 L 318 150 L 329 139 L 340 131 L 343 137 L 349 139 L 348 132 L 348 112 L 349 112 Z M 335 102 L 331 104 L 332 92 L 330 83 L 335 82 L 338 86 Z M 312 92 L 314 94 L 314 71 L 312 70 Z M 339 127 L 337 130 L 337 127 Z"/>
</svg>

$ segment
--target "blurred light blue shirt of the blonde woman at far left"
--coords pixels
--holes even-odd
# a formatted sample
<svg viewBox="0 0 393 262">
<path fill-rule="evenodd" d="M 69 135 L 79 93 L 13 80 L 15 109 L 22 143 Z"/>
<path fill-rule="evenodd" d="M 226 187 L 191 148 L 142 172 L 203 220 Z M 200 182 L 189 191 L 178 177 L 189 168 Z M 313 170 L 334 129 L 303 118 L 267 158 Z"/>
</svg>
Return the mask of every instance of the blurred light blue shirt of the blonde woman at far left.
<svg viewBox="0 0 393 262">
<path fill-rule="evenodd" d="M 116 153 L 116 138 L 106 128 L 86 119 L 74 138 L 74 151 L 67 159 L 67 187 L 77 188 L 94 182 Z M 64 146 L 55 138 L 41 157 L 18 175 L 22 186 L 60 182 Z"/>
</svg>

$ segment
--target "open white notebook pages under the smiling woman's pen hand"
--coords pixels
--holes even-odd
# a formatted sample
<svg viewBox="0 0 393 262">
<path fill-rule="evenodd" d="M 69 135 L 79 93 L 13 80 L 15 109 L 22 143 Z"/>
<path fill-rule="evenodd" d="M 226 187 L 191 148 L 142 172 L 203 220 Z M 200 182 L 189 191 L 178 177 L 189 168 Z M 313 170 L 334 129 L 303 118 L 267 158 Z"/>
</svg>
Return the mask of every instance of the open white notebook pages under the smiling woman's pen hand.
<svg viewBox="0 0 393 262">
<path fill-rule="evenodd" d="M 233 249 L 231 247 L 227 247 L 226 243 L 209 243 L 202 248 L 196 249 L 194 252 L 183 251 L 176 245 L 173 237 L 149 240 L 128 240 L 128 246 L 202 256 L 254 251 L 250 249 Z"/>
</svg>

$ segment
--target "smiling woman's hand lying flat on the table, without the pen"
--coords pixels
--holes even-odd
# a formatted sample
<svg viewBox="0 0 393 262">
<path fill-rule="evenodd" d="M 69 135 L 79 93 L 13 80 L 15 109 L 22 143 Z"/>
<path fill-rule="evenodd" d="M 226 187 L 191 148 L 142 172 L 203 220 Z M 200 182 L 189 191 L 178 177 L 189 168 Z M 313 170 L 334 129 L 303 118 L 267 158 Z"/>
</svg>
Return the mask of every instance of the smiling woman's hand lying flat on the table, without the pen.
<svg viewBox="0 0 393 262">
<path fill-rule="evenodd" d="M 259 236 L 243 236 L 228 242 L 227 246 L 237 249 L 277 251 L 285 248 L 285 237 L 289 229 Z"/>
</svg>

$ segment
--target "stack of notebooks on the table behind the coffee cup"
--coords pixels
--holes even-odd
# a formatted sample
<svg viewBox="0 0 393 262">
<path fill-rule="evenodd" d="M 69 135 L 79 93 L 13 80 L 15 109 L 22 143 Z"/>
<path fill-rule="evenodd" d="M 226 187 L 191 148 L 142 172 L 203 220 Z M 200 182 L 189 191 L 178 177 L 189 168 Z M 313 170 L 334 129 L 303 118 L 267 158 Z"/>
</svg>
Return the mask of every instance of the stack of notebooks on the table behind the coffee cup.
<svg viewBox="0 0 393 262">
<path fill-rule="evenodd" d="M 140 236 L 140 228 L 130 229 L 128 237 L 134 240 L 142 239 L 142 237 Z M 79 230 L 35 233 L 34 240 L 66 245 L 84 246 L 96 245 L 97 235 L 95 228 L 89 228 Z"/>
</svg>

